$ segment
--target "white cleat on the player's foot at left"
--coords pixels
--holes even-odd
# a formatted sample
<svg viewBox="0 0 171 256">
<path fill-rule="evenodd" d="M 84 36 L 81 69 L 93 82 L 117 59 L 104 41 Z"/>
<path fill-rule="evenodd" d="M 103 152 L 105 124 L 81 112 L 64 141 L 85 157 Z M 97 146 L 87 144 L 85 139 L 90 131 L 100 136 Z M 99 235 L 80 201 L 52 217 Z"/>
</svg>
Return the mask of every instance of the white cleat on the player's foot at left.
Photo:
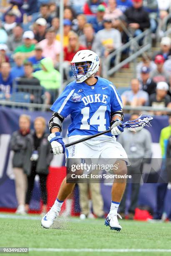
<svg viewBox="0 0 171 256">
<path fill-rule="evenodd" d="M 57 216 L 59 216 L 59 212 L 56 210 L 55 205 L 53 205 L 41 220 L 43 228 L 50 228 Z"/>
</svg>

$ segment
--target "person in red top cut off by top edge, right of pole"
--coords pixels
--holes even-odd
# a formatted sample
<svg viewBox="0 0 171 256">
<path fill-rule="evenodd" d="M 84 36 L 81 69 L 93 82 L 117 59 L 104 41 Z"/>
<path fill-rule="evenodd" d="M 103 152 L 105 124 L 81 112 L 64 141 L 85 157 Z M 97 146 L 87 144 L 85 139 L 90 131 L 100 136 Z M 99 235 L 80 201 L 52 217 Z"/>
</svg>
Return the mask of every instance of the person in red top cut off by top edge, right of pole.
<svg viewBox="0 0 171 256">
<path fill-rule="evenodd" d="M 103 0 L 87 0 L 87 2 L 83 6 L 83 13 L 89 15 L 96 15 L 98 5 L 101 4 L 106 6 L 106 3 Z"/>
</svg>

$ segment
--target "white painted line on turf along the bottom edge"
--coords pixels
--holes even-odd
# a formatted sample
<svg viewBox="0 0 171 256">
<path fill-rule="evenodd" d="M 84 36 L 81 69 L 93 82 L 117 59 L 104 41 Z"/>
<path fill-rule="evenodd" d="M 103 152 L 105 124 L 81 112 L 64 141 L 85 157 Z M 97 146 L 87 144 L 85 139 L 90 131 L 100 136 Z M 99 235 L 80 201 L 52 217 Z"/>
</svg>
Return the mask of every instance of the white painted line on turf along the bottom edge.
<svg viewBox="0 0 171 256">
<path fill-rule="evenodd" d="M 90 248 L 29 248 L 29 251 L 51 252 L 171 252 L 171 249 L 90 249 Z"/>
</svg>

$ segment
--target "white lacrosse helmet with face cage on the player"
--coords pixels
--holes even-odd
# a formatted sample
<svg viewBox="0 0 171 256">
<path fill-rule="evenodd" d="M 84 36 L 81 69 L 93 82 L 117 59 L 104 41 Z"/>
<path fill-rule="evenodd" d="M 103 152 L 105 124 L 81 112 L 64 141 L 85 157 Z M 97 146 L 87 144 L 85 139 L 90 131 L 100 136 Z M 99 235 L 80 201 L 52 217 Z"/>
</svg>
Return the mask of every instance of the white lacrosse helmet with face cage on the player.
<svg viewBox="0 0 171 256">
<path fill-rule="evenodd" d="M 80 62 L 90 62 L 91 65 L 88 68 L 87 64 L 83 66 L 79 66 L 78 63 Z M 92 77 L 99 68 L 100 61 L 98 58 L 98 55 L 94 51 L 90 50 L 81 50 L 78 51 L 71 61 L 71 70 L 73 72 L 73 77 L 76 80 L 77 83 L 81 83 L 85 81 L 88 77 Z M 83 67 L 84 74 L 79 74 L 78 67 Z"/>
</svg>

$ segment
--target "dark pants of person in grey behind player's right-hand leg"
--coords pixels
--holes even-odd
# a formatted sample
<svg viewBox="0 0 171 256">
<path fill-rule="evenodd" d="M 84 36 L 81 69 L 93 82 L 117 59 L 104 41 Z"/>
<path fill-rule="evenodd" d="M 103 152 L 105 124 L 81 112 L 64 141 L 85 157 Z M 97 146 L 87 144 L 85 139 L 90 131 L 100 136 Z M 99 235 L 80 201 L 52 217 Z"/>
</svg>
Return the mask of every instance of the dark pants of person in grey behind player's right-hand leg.
<svg viewBox="0 0 171 256">
<path fill-rule="evenodd" d="M 140 189 L 140 179 L 141 179 L 141 173 L 143 170 L 143 164 L 141 164 L 140 167 L 133 169 L 128 166 L 128 174 L 133 175 L 133 179 L 131 184 L 126 185 L 125 192 L 123 194 L 121 204 L 119 205 L 119 211 L 124 212 L 126 210 L 126 198 L 127 198 L 127 189 L 128 185 L 131 185 L 131 204 L 128 208 L 129 213 L 135 213 L 135 208 L 137 207 L 138 202 L 138 196 L 139 196 L 139 189 Z"/>
</svg>

